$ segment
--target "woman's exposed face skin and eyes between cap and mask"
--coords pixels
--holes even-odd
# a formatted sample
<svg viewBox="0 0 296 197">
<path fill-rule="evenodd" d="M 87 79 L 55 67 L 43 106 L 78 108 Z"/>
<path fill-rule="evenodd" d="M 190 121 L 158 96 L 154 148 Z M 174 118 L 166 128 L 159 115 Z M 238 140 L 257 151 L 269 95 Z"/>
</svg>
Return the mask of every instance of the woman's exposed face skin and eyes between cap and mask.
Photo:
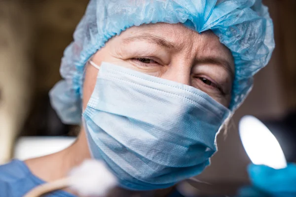
<svg viewBox="0 0 296 197">
<path fill-rule="evenodd" d="M 231 52 L 218 36 L 197 33 L 182 24 L 146 24 L 111 38 L 93 62 L 109 62 L 197 88 L 228 107 L 234 77 Z M 94 90 L 98 70 L 86 66 L 83 109 Z"/>
</svg>

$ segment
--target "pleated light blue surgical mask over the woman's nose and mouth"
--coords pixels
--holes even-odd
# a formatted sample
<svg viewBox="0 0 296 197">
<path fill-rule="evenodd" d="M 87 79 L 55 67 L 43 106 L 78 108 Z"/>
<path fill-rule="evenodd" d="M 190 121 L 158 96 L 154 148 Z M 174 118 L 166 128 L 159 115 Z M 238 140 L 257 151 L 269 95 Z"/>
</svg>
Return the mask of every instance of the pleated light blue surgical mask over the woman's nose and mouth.
<svg viewBox="0 0 296 197">
<path fill-rule="evenodd" d="M 109 63 L 99 69 L 84 128 L 93 158 L 121 187 L 167 188 L 210 164 L 229 109 L 191 86 Z"/>
</svg>

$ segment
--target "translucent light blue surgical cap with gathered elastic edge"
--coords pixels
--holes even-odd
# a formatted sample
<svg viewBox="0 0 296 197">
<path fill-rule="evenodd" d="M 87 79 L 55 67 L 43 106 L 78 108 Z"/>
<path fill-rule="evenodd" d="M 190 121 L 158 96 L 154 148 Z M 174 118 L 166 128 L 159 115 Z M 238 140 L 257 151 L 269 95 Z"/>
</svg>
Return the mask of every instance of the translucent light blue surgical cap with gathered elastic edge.
<svg viewBox="0 0 296 197">
<path fill-rule="evenodd" d="M 64 80 L 50 91 L 64 123 L 81 121 L 84 66 L 114 35 L 148 23 L 183 23 L 198 33 L 212 30 L 232 52 L 235 77 L 230 110 L 246 98 L 253 75 L 270 60 L 273 23 L 261 0 L 90 0 L 66 48 L 60 72 Z"/>
</svg>

